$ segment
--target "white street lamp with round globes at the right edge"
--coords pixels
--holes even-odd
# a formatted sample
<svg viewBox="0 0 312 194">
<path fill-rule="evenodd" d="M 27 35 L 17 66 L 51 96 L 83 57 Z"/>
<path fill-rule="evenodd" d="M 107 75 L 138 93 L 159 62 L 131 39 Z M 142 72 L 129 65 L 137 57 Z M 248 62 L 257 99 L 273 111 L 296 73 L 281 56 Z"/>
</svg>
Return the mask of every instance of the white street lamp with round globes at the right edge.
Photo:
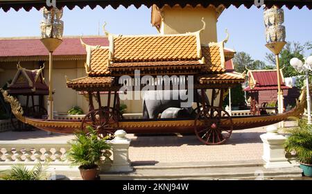
<svg viewBox="0 0 312 194">
<path fill-rule="evenodd" d="M 306 101 L 308 104 L 308 124 L 312 125 L 312 120 L 311 120 L 311 96 L 310 96 L 310 91 L 309 91 L 309 71 L 312 71 L 312 56 L 309 56 L 303 63 L 300 59 L 298 58 L 292 58 L 291 61 L 291 66 L 298 71 L 299 73 L 305 72 L 306 73 Z"/>
</svg>

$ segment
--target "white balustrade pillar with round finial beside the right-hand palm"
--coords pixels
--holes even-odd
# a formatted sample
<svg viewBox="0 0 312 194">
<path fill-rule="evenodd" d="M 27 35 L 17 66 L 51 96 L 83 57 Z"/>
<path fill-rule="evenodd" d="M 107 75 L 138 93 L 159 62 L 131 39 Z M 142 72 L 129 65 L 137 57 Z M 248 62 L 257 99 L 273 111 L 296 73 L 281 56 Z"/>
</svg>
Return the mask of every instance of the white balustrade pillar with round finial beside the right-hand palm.
<svg viewBox="0 0 312 194">
<path fill-rule="evenodd" d="M 265 168 L 293 167 L 285 157 L 286 137 L 277 132 L 275 125 L 269 125 L 266 128 L 266 134 L 261 134 L 260 138 L 263 141 L 262 159 L 266 161 Z"/>
</svg>

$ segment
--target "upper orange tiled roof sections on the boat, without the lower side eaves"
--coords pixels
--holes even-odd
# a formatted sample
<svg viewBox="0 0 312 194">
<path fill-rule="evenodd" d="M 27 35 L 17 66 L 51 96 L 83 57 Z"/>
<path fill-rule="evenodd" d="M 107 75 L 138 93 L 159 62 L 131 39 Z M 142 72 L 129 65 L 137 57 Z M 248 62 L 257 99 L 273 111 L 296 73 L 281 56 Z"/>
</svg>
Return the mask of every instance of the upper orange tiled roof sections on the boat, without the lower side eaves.
<svg viewBox="0 0 312 194">
<path fill-rule="evenodd" d="M 200 46 L 197 36 L 194 33 L 111 36 L 109 47 L 89 46 L 91 51 L 87 52 L 88 75 L 114 76 L 127 74 L 133 69 L 144 70 L 144 73 L 159 70 L 182 73 L 179 69 L 189 69 L 189 73 L 224 72 L 223 45 L 214 43 Z"/>
</svg>

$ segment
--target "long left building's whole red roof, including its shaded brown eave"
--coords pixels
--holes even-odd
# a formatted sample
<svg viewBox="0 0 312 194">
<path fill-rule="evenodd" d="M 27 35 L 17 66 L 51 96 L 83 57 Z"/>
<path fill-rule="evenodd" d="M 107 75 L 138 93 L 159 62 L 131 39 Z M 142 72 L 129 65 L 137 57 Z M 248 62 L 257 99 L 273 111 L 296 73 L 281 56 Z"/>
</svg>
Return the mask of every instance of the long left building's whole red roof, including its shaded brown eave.
<svg viewBox="0 0 312 194">
<path fill-rule="evenodd" d="M 63 42 L 53 52 L 53 60 L 85 60 L 87 52 L 81 46 L 79 37 L 63 37 Z M 85 37 L 91 45 L 108 46 L 107 37 Z M 0 39 L 0 62 L 49 60 L 40 37 L 14 37 Z"/>
</svg>

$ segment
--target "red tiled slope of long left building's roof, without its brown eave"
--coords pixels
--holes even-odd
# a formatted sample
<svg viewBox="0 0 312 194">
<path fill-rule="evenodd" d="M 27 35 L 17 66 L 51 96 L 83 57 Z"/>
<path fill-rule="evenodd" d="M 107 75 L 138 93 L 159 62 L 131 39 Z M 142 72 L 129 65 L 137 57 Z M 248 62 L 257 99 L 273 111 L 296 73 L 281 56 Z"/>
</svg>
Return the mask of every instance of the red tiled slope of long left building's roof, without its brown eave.
<svg viewBox="0 0 312 194">
<path fill-rule="evenodd" d="M 107 37 L 83 37 L 83 41 L 90 45 L 109 45 Z M 62 44 L 53 53 L 53 55 L 86 54 L 85 48 L 81 46 L 79 37 L 64 37 Z M 39 38 L 0 39 L 0 58 L 47 55 L 49 53 Z"/>
</svg>

